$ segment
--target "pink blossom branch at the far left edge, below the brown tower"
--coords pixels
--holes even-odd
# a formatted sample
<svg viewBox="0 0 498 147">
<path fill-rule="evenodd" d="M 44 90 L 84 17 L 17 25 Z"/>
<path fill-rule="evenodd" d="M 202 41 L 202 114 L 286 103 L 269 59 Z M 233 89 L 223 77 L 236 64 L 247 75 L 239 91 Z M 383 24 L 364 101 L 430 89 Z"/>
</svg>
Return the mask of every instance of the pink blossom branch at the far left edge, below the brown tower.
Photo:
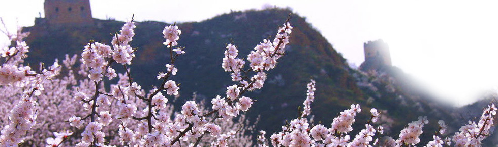
<svg viewBox="0 0 498 147">
<path fill-rule="evenodd" d="M 19 93 L 12 95 L 14 107 L 10 109 L 7 124 L 0 131 L 0 146 L 16 146 L 24 141 L 23 135 L 32 129 L 37 123 L 37 101 L 34 96 L 39 96 L 45 88 L 43 83 L 59 74 L 60 66 L 55 62 L 48 69 L 40 69 L 39 72 L 32 71 L 29 66 L 23 66 L 23 58 L 28 52 L 28 46 L 22 41 L 28 33 L 17 32 L 11 36 L 11 41 L 16 42 L 16 47 L 4 48 L 0 51 L 0 86 L 6 89 L 13 88 Z M 22 93 L 22 94 L 21 94 Z M 20 98 L 17 98 L 20 97 Z M 17 98 L 17 99 L 16 99 Z"/>
</svg>

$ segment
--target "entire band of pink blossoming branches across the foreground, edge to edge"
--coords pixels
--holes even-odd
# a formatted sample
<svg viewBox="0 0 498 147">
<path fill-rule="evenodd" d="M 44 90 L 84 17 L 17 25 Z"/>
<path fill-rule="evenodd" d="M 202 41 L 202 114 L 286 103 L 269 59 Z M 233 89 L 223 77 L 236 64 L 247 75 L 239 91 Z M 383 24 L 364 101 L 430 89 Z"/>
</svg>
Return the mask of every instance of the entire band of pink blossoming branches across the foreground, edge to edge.
<svg viewBox="0 0 498 147">
<path fill-rule="evenodd" d="M 234 84 L 226 87 L 226 95 L 214 97 L 210 104 L 196 101 L 194 94 L 179 112 L 168 102 L 177 98 L 181 81 L 170 78 L 181 73 L 175 61 L 189 50 L 178 46 L 181 30 L 175 24 L 163 30 L 169 63 L 157 76 L 160 84 L 148 91 L 134 81 L 136 75 L 128 67 L 137 51 L 130 45 L 135 36 L 133 19 L 113 35 L 110 45 L 90 41 L 84 46 L 79 68 L 75 68 L 77 55 L 67 55 L 64 66 L 56 60 L 48 69 L 32 71 L 22 65 L 29 48 L 22 42 L 27 33 L 9 34 L 16 46 L 0 52 L 0 89 L 10 93 L 2 101 L 5 105 L 1 113 L 8 115 L 2 117 L 0 146 L 252 146 L 250 133 L 254 127 L 241 112 L 250 109 L 254 100 L 243 94 L 262 88 L 266 72 L 285 55 L 293 29 L 288 21 L 273 40 L 264 39 L 246 58 L 239 58 L 236 45 L 227 44 L 221 67 L 230 73 Z M 116 72 L 118 66 L 123 67 L 122 74 Z M 64 74 L 59 75 L 63 68 Z M 77 76 L 87 78 L 76 80 Z M 104 81 L 114 78 L 118 82 L 106 87 Z M 352 124 L 361 112 L 360 106 L 351 105 L 330 125 L 314 124 L 310 115 L 315 81 L 307 88 L 298 118 L 271 135 L 270 143 L 266 132 L 260 131 L 259 146 L 415 146 L 428 123 L 427 117 L 419 117 L 401 130 L 398 139 L 380 137 L 383 126 L 376 126 L 380 113 L 374 108 L 365 128 L 352 138 Z M 16 105 L 9 108 L 10 104 Z M 444 140 L 440 136 L 446 132 L 446 124 L 440 121 L 438 133 L 426 146 L 480 146 L 489 135 L 495 114 L 496 108 L 490 104 L 477 123 L 470 121 Z"/>
</svg>

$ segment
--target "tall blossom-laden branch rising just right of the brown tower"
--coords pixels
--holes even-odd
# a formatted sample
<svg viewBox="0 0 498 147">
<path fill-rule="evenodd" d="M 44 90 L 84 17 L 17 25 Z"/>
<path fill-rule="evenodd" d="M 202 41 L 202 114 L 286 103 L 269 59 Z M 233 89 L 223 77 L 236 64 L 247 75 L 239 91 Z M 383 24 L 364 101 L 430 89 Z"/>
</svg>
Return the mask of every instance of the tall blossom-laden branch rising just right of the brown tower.
<svg viewBox="0 0 498 147">
<path fill-rule="evenodd" d="M 95 94 L 88 96 L 87 93 L 80 91 L 75 94 L 75 99 L 83 104 L 84 109 L 89 111 L 89 114 L 84 118 L 77 116 L 68 118 L 71 126 L 81 128 L 84 126 L 84 120 L 90 118 L 90 122 L 81 133 L 82 139 L 76 146 L 106 146 L 104 144 L 106 135 L 102 130 L 104 126 L 108 126 L 113 121 L 109 110 L 111 101 L 114 99 L 118 100 L 116 105 L 119 110 L 115 113 L 117 117 L 131 118 L 134 116 L 137 108 L 134 104 L 127 103 L 127 101 L 132 96 L 141 95 L 139 85 L 136 83 L 125 85 L 126 87 L 112 85 L 109 93 L 103 92 L 99 88 L 103 76 L 108 77 L 109 80 L 117 77 L 115 70 L 111 67 L 113 62 L 121 65 L 131 64 L 132 57 L 135 55 L 129 42 L 132 41 L 135 35 L 133 30 L 135 27 L 133 19 L 126 22 L 121 28 L 120 34 L 113 37 L 112 48 L 99 42 L 91 42 L 84 47 L 81 54 L 82 66 L 89 68 L 88 78 L 95 83 L 95 89 L 93 89 Z"/>
</svg>

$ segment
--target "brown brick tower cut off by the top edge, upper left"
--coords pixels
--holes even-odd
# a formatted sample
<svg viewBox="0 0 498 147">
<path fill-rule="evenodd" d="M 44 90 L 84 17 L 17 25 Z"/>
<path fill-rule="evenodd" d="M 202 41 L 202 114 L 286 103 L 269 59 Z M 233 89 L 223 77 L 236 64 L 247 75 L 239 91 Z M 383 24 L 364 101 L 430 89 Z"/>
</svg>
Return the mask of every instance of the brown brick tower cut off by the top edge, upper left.
<svg viewBox="0 0 498 147">
<path fill-rule="evenodd" d="M 45 0 L 44 7 L 50 25 L 88 25 L 94 21 L 89 0 Z"/>
</svg>

